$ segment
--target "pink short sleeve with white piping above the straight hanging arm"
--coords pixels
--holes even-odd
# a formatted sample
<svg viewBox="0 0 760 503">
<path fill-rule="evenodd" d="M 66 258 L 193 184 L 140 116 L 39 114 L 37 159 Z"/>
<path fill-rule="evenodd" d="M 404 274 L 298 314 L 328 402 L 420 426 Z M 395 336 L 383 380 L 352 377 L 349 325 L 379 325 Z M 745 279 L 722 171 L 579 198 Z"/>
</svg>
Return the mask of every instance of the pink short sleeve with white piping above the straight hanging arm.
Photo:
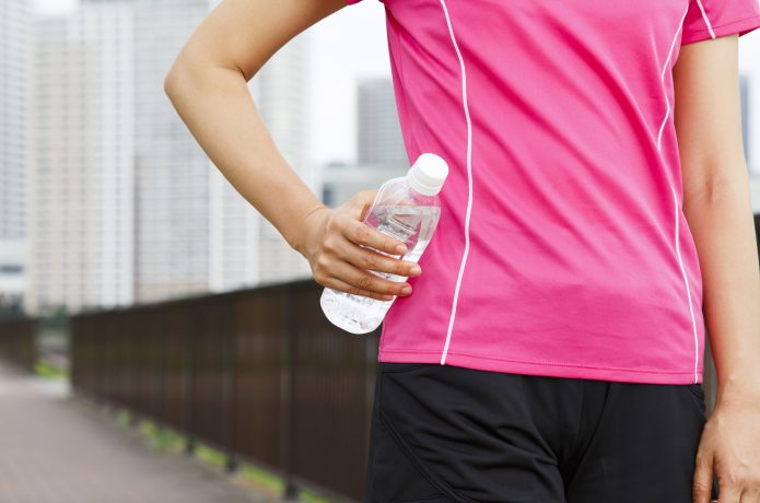
<svg viewBox="0 0 760 503">
<path fill-rule="evenodd" d="M 760 0 L 689 0 L 681 44 L 760 27 Z"/>
</svg>

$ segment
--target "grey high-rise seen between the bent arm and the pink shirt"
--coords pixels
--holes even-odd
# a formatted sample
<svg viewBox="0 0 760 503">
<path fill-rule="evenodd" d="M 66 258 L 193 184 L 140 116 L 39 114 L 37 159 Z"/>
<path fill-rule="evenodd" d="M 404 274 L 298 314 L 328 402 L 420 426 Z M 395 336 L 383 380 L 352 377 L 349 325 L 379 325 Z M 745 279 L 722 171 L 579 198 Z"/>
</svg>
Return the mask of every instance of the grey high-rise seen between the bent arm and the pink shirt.
<svg viewBox="0 0 760 503">
<path fill-rule="evenodd" d="M 390 77 L 366 78 L 359 83 L 358 114 L 358 163 L 409 167 Z"/>
</svg>

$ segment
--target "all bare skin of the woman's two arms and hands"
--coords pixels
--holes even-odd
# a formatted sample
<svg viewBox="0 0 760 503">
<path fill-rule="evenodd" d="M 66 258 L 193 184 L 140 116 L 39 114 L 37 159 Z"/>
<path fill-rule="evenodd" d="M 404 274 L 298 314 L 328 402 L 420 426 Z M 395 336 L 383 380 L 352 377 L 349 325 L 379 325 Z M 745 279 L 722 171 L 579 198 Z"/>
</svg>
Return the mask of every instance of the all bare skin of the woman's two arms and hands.
<svg viewBox="0 0 760 503">
<path fill-rule="evenodd" d="M 344 0 L 224 0 L 191 34 L 164 90 L 235 189 L 301 253 L 325 286 L 373 299 L 406 295 L 421 273 L 399 241 L 361 220 L 376 190 L 330 209 L 299 178 L 267 131 L 246 82 L 288 40 L 346 7 Z M 739 120 L 736 35 L 689 44 L 674 68 L 674 120 L 683 213 L 703 276 L 705 323 L 717 371 L 717 402 L 695 459 L 694 502 L 760 502 L 760 266 Z M 414 269 L 417 267 L 417 269 Z"/>
</svg>

